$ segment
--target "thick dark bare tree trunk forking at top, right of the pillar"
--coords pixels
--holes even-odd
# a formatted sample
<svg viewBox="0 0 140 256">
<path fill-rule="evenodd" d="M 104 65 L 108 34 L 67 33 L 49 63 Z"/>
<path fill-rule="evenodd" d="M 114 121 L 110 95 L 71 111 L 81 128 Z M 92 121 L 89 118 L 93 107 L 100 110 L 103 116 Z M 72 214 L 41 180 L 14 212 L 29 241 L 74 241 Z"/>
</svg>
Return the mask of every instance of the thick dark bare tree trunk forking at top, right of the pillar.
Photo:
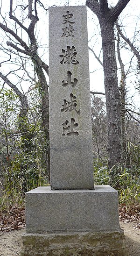
<svg viewBox="0 0 140 256">
<path fill-rule="evenodd" d="M 108 7 L 108 0 L 86 0 L 86 5 L 99 20 L 102 37 L 105 97 L 108 125 L 109 167 L 121 163 L 120 94 L 115 56 L 114 22 L 130 0 L 119 0 L 115 7 Z"/>
</svg>

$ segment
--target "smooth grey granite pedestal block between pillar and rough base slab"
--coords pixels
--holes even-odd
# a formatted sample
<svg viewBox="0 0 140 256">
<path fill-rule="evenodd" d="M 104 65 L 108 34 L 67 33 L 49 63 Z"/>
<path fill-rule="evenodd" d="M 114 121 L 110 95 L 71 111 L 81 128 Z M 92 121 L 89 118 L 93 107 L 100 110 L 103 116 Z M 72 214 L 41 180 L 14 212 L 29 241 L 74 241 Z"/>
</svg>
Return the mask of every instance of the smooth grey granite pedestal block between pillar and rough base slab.
<svg viewBox="0 0 140 256">
<path fill-rule="evenodd" d="M 95 190 L 50 190 L 26 193 L 26 231 L 119 231 L 118 193 L 112 187 Z"/>
</svg>

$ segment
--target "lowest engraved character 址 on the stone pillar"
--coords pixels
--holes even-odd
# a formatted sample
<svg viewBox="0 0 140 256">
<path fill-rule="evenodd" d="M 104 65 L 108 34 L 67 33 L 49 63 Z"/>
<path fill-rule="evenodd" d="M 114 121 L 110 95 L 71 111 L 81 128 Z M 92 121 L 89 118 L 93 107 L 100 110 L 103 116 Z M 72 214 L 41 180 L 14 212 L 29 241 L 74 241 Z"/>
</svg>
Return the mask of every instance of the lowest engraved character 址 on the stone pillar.
<svg viewBox="0 0 140 256">
<path fill-rule="evenodd" d="M 62 126 L 63 126 L 63 136 L 67 135 L 67 136 L 71 136 L 71 135 L 79 135 L 77 131 L 74 131 L 75 128 L 78 126 L 78 123 L 75 123 L 75 119 L 71 118 L 70 120 L 70 125 L 69 121 L 66 120 Z"/>
</svg>

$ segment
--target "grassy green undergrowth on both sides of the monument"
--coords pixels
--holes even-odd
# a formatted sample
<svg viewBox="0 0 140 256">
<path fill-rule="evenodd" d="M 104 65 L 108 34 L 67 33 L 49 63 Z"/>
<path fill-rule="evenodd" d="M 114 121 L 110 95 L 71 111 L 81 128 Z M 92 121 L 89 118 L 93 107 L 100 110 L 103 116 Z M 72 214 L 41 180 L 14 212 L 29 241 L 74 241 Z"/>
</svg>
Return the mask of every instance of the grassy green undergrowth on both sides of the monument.
<svg viewBox="0 0 140 256">
<path fill-rule="evenodd" d="M 9 181 L 11 183 L 9 183 Z M 26 187 L 25 187 L 26 181 Z M 12 205 L 23 207 L 25 205 L 25 192 L 37 186 L 49 185 L 46 177 L 35 171 L 35 175 L 25 173 L 25 177 L 14 171 L 12 176 L 5 176 L 5 184 L 0 183 L 0 211 L 9 212 Z M 101 162 L 94 162 L 94 185 L 111 185 L 118 191 L 119 204 L 127 208 L 133 205 L 140 206 L 140 168 L 113 167 L 111 170 Z"/>
</svg>

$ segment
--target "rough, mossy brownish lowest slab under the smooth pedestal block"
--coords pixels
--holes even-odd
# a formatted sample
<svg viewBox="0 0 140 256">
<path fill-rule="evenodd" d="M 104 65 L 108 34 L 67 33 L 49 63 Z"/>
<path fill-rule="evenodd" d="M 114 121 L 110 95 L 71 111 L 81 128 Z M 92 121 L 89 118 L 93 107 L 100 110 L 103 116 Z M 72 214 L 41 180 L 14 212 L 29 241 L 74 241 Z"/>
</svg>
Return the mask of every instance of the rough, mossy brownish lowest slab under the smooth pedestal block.
<svg viewBox="0 0 140 256">
<path fill-rule="evenodd" d="M 124 233 L 23 234 L 21 256 L 127 256 Z"/>
</svg>

